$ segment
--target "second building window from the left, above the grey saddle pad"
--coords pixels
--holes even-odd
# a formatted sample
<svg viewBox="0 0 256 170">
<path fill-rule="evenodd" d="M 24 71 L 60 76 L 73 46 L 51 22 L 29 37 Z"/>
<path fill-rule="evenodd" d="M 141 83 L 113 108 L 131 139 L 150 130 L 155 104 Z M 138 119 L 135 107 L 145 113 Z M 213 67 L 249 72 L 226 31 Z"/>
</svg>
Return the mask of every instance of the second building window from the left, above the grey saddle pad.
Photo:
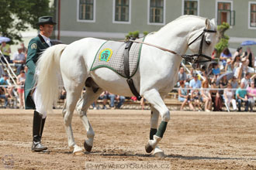
<svg viewBox="0 0 256 170">
<path fill-rule="evenodd" d="M 129 22 L 130 0 L 115 0 L 115 21 Z"/>
</svg>

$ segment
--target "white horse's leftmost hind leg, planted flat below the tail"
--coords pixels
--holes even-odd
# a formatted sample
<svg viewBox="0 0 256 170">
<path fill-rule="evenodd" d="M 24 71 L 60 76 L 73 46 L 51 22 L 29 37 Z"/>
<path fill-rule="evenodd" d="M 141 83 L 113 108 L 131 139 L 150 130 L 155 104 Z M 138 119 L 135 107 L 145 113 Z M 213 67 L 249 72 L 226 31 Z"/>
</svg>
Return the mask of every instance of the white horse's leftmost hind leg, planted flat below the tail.
<svg viewBox="0 0 256 170">
<path fill-rule="evenodd" d="M 74 108 L 77 104 L 78 98 L 81 95 L 81 89 L 83 87 L 83 83 L 75 84 L 75 83 L 67 83 L 66 90 L 67 90 L 67 100 L 62 110 L 62 115 L 64 117 L 64 125 L 67 132 L 67 141 L 68 146 L 73 149 L 74 154 L 81 154 L 83 149 L 78 147 L 78 145 L 74 142 L 74 136 L 72 131 L 72 117 L 74 113 Z"/>
</svg>

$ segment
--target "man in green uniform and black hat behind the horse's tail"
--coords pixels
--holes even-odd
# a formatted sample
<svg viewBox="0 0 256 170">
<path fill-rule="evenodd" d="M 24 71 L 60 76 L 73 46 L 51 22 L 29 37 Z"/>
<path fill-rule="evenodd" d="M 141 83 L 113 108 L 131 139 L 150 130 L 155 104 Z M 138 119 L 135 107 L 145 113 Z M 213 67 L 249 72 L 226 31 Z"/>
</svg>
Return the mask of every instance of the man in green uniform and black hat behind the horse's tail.
<svg viewBox="0 0 256 170">
<path fill-rule="evenodd" d="M 47 49 L 51 46 L 49 37 L 54 30 L 56 22 L 54 22 L 51 16 L 42 16 L 38 20 L 37 26 L 39 26 L 40 34 L 30 40 L 26 58 L 28 72 L 25 82 L 25 106 L 26 109 L 34 110 L 32 151 L 47 151 L 47 147 L 41 144 L 47 112 L 43 109 L 39 91 L 36 90 L 36 87 L 34 88 L 34 74 L 36 73 L 36 62 L 39 59 L 40 53 L 43 52 L 43 49 Z"/>
</svg>

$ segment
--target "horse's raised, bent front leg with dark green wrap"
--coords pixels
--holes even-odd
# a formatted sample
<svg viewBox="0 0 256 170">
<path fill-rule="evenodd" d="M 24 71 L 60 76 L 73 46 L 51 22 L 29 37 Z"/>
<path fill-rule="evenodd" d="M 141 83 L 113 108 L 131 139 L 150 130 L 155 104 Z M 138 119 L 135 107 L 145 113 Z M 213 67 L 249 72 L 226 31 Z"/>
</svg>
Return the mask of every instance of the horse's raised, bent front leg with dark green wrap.
<svg viewBox="0 0 256 170">
<path fill-rule="evenodd" d="M 161 98 L 161 95 L 157 90 L 147 90 L 146 92 L 144 92 L 144 97 L 152 105 L 151 107 L 154 107 L 161 114 L 161 124 L 159 125 L 156 133 L 156 127 L 152 128 L 154 129 L 151 132 L 151 134 L 153 135 L 153 139 L 150 139 L 145 146 L 147 153 L 150 153 L 151 151 L 153 151 L 154 148 L 156 148 L 157 144 L 164 136 L 164 131 L 166 130 L 168 121 L 170 120 L 170 112 L 168 110 L 168 107 L 166 107 L 166 105 L 164 104 L 164 100 Z"/>
</svg>

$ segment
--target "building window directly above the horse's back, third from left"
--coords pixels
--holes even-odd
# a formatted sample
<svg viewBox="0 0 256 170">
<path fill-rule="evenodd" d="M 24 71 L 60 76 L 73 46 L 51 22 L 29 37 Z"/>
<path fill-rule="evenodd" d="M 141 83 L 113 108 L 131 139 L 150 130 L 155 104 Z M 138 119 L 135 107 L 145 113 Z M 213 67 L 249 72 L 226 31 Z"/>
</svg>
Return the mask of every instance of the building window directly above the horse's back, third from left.
<svg viewBox="0 0 256 170">
<path fill-rule="evenodd" d="M 164 23 L 164 0 L 150 0 L 150 23 Z"/>
</svg>

